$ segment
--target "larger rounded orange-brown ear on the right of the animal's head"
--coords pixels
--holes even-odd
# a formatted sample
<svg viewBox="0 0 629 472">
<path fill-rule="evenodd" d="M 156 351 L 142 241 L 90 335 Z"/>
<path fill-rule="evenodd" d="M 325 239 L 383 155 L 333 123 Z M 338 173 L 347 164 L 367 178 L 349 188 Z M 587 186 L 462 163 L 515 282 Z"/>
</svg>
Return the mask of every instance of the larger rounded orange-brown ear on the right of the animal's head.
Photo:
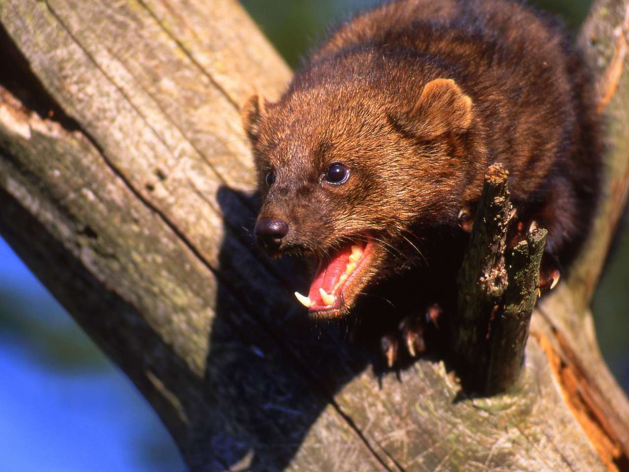
<svg viewBox="0 0 629 472">
<path fill-rule="evenodd" d="M 431 80 L 415 106 L 394 116 L 407 133 L 423 140 L 444 133 L 464 133 L 472 123 L 472 99 L 452 79 Z"/>
</svg>

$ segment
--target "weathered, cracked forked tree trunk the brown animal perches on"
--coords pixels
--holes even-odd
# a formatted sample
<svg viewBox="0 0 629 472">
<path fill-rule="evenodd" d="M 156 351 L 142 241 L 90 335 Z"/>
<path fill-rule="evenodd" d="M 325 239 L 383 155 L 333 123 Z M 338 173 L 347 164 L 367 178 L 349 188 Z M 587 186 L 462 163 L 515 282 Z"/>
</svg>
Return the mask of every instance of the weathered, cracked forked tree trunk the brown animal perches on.
<svg viewBox="0 0 629 472">
<path fill-rule="evenodd" d="M 255 256 L 237 104 L 289 70 L 237 3 L 0 0 L 0 21 L 0 232 L 191 469 L 626 466 L 629 407 L 587 309 L 629 185 L 626 0 L 597 1 L 581 35 L 610 116 L 596 236 L 538 304 L 518 388 L 487 398 L 428 359 L 376 378 Z"/>
</svg>

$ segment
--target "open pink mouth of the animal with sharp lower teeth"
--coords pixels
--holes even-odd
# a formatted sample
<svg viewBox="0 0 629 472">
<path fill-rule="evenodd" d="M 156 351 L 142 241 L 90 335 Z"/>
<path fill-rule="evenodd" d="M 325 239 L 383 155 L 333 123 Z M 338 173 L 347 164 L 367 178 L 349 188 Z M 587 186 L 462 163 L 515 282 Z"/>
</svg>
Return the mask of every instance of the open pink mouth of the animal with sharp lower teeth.
<svg viewBox="0 0 629 472">
<path fill-rule="evenodd" d="M 371 238 L 365 235 L 364 239 L 350 241 L 331 254 L 329 259 L 320 261 L 307 297 L 295 292 L 299 302 L 308 307 L 311 316 L 329 318 L 341 313 L 345 295 L 353 292 L 352 287 L 365 272 L 372 253 Z"/>
</svg>

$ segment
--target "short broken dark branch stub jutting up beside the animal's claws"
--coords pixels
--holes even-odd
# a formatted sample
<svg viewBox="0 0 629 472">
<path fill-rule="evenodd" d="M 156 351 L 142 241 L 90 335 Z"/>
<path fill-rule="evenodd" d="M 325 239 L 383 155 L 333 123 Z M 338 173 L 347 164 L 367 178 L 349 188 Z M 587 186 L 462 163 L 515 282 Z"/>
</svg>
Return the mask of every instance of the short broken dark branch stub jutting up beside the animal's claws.
<svg viewBox="0 0 629 472">
<path fill-rule="evenodd" d="M 459 310 L 450 317 L 462 383 L 489 395 L 518 386 L 547 234 L 533 224 L 511 228 L 508 175 L 500 163 L 487 170 L 459 274 Z M 514 248 L 507 247 L 509 229 L 511 239 L 523 238 Z"/>
</svg>

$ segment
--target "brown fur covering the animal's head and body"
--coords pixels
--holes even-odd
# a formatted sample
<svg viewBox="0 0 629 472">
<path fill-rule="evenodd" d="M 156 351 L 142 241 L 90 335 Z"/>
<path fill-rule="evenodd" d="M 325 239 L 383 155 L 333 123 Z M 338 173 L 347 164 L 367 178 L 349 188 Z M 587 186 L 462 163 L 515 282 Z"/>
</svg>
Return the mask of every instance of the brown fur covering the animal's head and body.
<svg viewBox="0 0 629 472">
<path fill-rule="evenodd" d="M 396 304 L 422 288 L 421 302 L 451 302 L 466 241 L 457 216 L 501 162 L 518 217 L 547 228 L 547 251 L 567 265 L 599 175 L 593 91 L 569 44 L 549 19 L 500 1 L 404 0 L 339 28 L 278 102 L 243 109 L 259 221 L 289 228 L 274 255 L 325 259 L 369 234 L 374 255 L 340 312 L 377 282 Z M 343 184 L 324 178 L 336 162 Z M 411 285 L 396 282 L 404 269 Z"/>
</svg>

